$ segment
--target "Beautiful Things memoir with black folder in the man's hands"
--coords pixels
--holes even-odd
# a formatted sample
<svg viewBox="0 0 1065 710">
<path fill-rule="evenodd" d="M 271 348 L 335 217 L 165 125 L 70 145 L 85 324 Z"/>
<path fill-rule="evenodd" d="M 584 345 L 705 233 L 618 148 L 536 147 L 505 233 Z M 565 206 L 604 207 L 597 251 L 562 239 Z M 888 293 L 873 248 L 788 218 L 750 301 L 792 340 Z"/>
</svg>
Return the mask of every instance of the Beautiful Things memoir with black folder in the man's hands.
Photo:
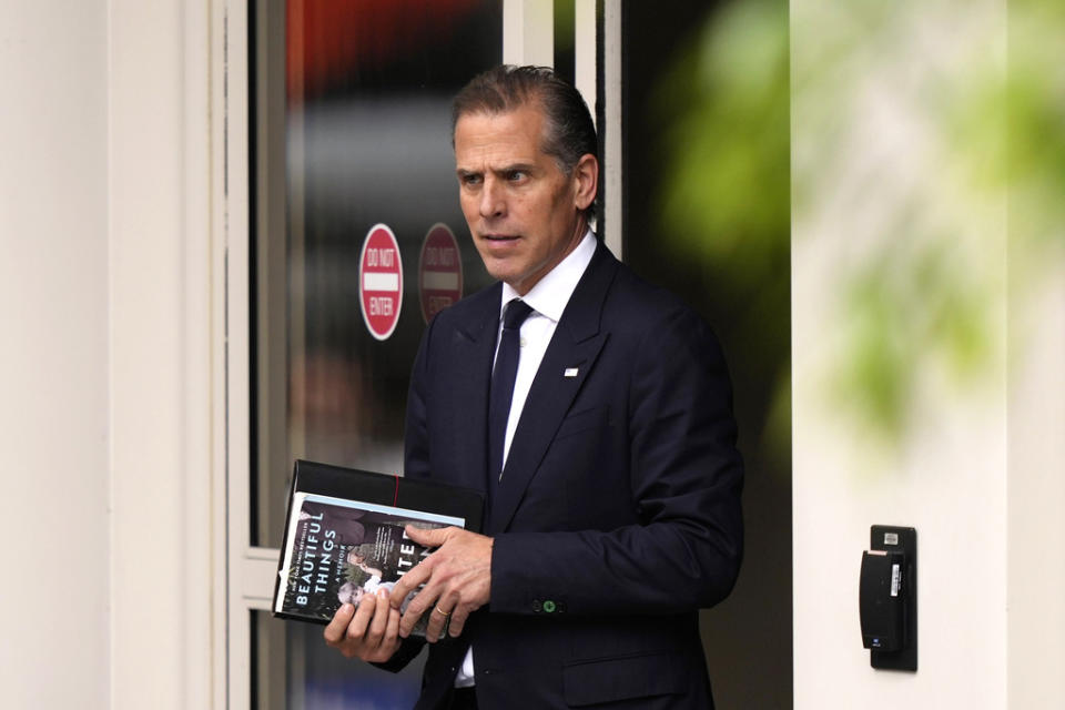
<svg viewBox="0 0 1065 710">
<path fill-rule="evenodd" d="M 407 525 L 479 531 L 479 491 L 297 460 L 277 561 L 275 617 L 328 623 L 345 602 L 392 589 L 433 550 Z M 415 590 L 400 609 L 417 595 Z M 413 633 L 425 636 L 424 615 Z"/>
</svg>

